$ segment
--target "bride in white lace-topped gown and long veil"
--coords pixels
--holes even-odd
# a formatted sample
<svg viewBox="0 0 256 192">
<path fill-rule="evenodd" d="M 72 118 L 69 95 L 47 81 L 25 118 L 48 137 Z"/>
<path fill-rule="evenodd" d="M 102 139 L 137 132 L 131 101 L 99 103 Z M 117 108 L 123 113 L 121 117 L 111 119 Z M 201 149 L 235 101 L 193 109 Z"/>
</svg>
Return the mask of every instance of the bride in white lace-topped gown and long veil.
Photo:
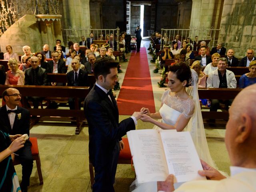
<svg viewBox="0 0 256 192">
<path fill-rule="evenodd" d="M 200 103 L 198 98 L 198 75 L 184 62 L 170 66 L 168 72 L 169 90 L 164 91 L 161 98 L 159 112 L 150 113 L 148 108 L 141 108 L 143 122 L 155 124 L 156 129 L 176 129 L 177 131 L 189 131 L 198 156 L 210 166 L 216 167 L 208 149 Z M 161 121 L 155 119 L 162 119 Z M 156 183 L 156 182 L 155 182 Z M 140 187 L 149 183 L 136 186 L 135 191 L 143 190 Z"/>
</svg>

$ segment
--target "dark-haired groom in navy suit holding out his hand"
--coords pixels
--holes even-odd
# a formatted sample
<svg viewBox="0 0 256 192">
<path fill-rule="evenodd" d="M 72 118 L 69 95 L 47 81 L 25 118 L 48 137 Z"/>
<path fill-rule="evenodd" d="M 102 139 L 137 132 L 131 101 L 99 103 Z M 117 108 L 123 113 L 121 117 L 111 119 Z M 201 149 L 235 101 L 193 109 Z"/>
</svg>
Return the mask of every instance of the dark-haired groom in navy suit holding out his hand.
<svg viewBox="0 0 256 192">
<path fill-rule="evenodd" d="M 89 126 L 89 158 L 94 166 L 93 192 L 114 192 L 119 151 L 124 148 L 122 136 L 135 129 L 140 112 L 119 123 L 117 103 L 112 89 L 118 81 L 118 62 L 110 57 L 94 64 L 96 83 L 84 100 Z"/>
</svg>

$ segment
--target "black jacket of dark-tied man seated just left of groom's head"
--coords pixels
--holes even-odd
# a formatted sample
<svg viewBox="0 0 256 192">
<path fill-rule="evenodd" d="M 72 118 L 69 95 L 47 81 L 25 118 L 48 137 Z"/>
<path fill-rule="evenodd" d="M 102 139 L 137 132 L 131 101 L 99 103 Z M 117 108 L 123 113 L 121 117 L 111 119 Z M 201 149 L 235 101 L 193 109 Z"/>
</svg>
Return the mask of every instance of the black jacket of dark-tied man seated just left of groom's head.
<svg viewBox="0 0 256 192">
<path fill-rule="evenodd" d="M 68 86 L 74 86 L 74 70 L 67 73 L 67 79 Z M 89 86 L 88 74 L 82 69 L 79 70 L 77 86 Z"/>
</svg>

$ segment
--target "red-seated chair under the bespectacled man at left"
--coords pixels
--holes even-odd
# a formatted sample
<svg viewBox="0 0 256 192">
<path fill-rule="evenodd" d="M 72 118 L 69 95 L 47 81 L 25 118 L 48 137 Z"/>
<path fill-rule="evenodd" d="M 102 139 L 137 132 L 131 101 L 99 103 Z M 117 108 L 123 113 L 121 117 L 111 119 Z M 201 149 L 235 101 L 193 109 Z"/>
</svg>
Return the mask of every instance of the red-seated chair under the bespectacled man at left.
<svg viewBox="0 0 256 192">
<path fill-rule="evenodd" d="M 37 173 L 39 177 L 39 185 L 42 185 L 44 184 L 44 181 L 43 181 L 42 170 L 41 170 L 41 162 L 40 162 L 39 150 L 37 145 L 37 138 L 30 137 L 29 140 L 32 143 L 32 146 L 31 146 L 32 157 L 36 161 Z M 14 159 L 13 164 L 18 165 L 20 164 L 20 161 L 18 159 Z"/>
</svg>

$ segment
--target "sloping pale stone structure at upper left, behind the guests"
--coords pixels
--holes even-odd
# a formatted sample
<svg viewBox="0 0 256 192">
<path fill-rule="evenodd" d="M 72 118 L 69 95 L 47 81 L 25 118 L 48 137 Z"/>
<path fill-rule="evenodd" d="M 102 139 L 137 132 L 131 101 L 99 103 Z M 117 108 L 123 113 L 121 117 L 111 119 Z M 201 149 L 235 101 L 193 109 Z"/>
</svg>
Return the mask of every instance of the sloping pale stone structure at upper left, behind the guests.
<svg viewBox="0 0 256 192">
<path fill-rule="evenodd" d="M 12 24 L 0 37 L 1 50 L 6 52 L 6 45 L 11 45 L 13 52 L 23 55 L 22 47 L 28 45 L 32 52 L 42 50 L 42 36 L 35 15 L 25 15 Z"/>
</svg>

